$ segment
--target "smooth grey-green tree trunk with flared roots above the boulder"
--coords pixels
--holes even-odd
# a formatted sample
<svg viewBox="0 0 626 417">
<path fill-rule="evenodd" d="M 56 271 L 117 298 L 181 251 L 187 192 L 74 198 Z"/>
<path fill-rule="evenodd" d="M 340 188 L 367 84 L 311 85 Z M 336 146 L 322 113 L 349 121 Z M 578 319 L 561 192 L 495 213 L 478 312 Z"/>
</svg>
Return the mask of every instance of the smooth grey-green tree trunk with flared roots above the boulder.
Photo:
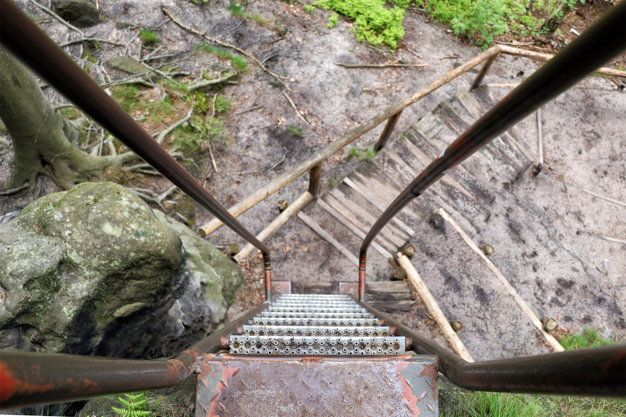
<svg viewBox="0 0 626 417">
<path fill-rule="evenodd" d="M 43 173 L 68 190 L 93 177 L 102 178 L 106 167 L 136 159 L 131 152 L 95 157 L 75 147 L 63 133 L 63 117 L 54 111 L 33 74 L 4 51 L 0 51 L 0 118 L 15 150 L 6 189 L 26 182 L 34 185 L 37 174 Z"/>
</svg>

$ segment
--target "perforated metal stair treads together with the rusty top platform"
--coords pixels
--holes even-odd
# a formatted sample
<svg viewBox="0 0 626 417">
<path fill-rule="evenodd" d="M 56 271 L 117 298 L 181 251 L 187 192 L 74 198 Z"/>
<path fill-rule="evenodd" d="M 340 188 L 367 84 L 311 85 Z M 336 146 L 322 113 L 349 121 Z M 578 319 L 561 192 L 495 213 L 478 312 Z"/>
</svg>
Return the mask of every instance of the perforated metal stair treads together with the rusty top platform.
<svg viewBox="0 0 626 417">
<path fill-rule="evenodd" d="M 438 415 L 436 356 L 351 297 L 282 294 L 265 310 L 205 355 L 197 416 Z"/>
</svg>

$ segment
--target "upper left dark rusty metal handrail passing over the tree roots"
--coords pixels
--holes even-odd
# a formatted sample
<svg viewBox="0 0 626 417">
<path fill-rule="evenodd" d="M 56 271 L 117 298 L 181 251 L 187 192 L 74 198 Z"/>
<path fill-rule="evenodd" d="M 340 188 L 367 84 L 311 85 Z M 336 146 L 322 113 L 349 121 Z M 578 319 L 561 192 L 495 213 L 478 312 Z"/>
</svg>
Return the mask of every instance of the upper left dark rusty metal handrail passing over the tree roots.
<svg viewBox="0 0 626 417">
<path fill-rule="evenodd" d="M 264 259 L 265 298 L 272 298 L 269 249 L 224 209 L 13 1 L 0 1 L 0 43 L 163 177 L 257 247 L 263 253 Z"/>
</svg>

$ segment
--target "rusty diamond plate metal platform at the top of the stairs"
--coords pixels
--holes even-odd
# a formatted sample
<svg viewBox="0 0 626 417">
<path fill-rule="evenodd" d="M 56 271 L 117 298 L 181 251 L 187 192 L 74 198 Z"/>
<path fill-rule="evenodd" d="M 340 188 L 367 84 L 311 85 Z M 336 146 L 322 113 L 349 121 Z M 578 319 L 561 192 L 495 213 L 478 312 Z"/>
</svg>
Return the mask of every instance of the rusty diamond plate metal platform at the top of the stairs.
<svg viewBox="0 0 626 417">
<path fill-rule="evenodd" d="M 207 354 L 196 416 L 428 416 L 438 409 L 432 356 Z"/>
</svg>

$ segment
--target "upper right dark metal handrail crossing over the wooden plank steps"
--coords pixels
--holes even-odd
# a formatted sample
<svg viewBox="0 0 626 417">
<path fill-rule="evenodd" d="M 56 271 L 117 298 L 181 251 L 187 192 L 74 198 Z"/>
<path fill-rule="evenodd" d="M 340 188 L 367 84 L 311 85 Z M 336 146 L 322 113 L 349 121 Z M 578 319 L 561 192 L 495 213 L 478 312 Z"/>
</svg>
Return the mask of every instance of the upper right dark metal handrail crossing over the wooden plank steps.
<svg viewBox="0 0 626 417">
<path fill-rule="evenodd" d="M 607 11 L 577 39 L 563 48 L 545 65 L 500 100 L 485 115 L 469 126 L 461 136 L 431 162 L 404 188 L 376 220 L 359 251 L 359 301 L 364 301 L 367 248 L 384 225 L 413 198 L 469 158 L 501 133 L 530 115 L 547 101 L 622 53 L 626 46 L 626 2 Z M 488 67 L 489 62 L 485 63 Z M 485 67 L 483 67 L 485 68 Z M 479 74 L 480 76 L 480 74 Z"/>
</svg>

